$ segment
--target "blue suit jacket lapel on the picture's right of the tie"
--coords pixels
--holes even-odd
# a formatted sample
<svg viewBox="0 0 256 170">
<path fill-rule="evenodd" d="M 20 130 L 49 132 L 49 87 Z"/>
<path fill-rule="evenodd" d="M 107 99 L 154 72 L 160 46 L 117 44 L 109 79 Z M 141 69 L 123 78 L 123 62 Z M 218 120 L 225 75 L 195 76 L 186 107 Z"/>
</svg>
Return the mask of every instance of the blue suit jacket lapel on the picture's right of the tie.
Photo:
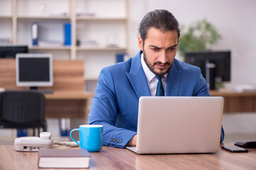
<svg viewBox="0 0 256 170">
<path fill-rule="evenodd" d="M 174 64 L 167 75 L 166 96 L 178 96 L 181 84 L 181 69 L 179 69 L 174 60 Z"/>
</svg>

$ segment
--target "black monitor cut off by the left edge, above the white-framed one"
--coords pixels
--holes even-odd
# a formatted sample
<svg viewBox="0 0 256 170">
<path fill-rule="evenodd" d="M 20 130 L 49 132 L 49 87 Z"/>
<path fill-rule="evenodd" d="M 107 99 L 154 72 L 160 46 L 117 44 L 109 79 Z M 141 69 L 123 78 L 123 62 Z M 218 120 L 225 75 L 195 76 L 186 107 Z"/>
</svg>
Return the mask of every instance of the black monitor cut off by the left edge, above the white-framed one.
<svg viewBox="0 0 256 170">
<path fill-rule="evenodd" d="M 28 53 L 28 45 L 0 46 L 0 58 L 15 58 L 17 53 Z"/>
</svg>

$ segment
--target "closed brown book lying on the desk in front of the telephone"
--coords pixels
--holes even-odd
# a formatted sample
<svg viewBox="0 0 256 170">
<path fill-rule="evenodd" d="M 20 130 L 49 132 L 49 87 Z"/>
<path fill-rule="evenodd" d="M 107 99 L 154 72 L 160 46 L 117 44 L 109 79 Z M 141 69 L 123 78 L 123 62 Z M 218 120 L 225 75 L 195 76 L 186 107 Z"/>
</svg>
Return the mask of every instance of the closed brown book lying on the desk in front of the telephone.
<svg viewBox="0 0 256 170">
<path fill-rule="evenodd" d="M 39 149 L 39 168 L 88 168 L 90 154 L 86 149 Z"/>
</svg>

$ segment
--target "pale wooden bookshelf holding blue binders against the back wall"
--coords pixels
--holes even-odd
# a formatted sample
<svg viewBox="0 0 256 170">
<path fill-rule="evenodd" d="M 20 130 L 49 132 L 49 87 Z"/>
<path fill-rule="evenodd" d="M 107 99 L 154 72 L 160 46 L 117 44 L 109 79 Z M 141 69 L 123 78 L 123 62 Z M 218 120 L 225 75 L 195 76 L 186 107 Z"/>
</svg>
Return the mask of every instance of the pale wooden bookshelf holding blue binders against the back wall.
<svg viewBox="0 0 256 170">
<path fill-rule="evenodd" d="M 0 38 L 53 59 L 85 60 L 85 79 L 94 81 L 117 53 L 128 51 L 128 6 L 129 0 L 0 0 Z M 37 46 L 31 45 L 33 22 Z M 65 23 L 71 23 L 69 46 L 63 45 Z"/>
</svg>

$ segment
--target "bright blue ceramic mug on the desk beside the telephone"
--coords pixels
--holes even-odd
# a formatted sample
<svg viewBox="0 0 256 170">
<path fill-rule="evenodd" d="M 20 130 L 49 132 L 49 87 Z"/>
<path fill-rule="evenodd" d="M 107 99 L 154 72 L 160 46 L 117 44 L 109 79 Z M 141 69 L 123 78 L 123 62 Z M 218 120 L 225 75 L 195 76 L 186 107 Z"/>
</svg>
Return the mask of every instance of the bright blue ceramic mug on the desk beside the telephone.
<svg viewBox="0 0 256 170">
<path fill-rule="evenodd" d="M 79 131 L 79 142 L 72 137 L 75 130 Z M 80 125 L 79 129 L 71 130 L 70 137 L 81 149 L 87 149 L 88 152 L 99 152 L 102 149 L 102 133 L 102 125 Z"/>
</svg>

